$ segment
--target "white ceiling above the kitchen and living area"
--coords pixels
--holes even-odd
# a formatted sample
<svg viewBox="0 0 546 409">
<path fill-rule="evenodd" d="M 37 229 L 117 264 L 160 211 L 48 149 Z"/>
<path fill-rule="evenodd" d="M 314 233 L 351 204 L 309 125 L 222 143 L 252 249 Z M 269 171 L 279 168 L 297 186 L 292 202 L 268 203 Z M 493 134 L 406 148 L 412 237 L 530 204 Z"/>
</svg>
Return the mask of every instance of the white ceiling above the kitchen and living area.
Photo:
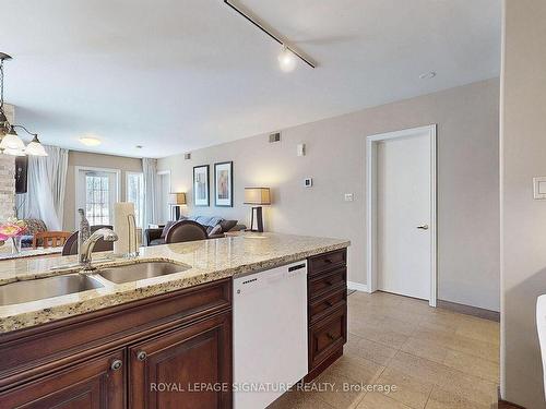
<svg viewBox="0 0 546 409">
<path fill-rule="evenodd" d="M 162 157 L 499 75 L 500 0 L 241 2 L 320 67 L 281 72 L 223 0 L 0 0 L 7 101 L 44 143 Z"/>
</svg>

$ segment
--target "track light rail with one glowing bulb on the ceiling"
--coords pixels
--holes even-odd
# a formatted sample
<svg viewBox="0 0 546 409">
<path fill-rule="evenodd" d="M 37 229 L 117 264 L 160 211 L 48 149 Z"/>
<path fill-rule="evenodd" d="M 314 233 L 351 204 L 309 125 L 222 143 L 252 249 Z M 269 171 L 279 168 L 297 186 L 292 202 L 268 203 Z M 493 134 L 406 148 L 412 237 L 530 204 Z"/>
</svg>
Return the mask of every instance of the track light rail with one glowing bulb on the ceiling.
<svg viewBox="0 0 546 409">
<path fill-rule="evenodd" d="M 244 8 L 242 5 L 235 5 L 233 0 L 224 0 L 224 3 L 229 5 L 233 10 L 242 15 L 250 23 L 256 25 L 263 33 L 277 41 L 281 46 L 283 46 L 283 49 L 278 55 L 278 64 L 282 71 L 293 71 L 297 65 L 297 58 L 299 58 L 310 68 L 317 68 L 317 62 L 314 60 L 306 56 L 302 51 L 296 49 L 296 47 L 288 45 L 286 39 L 281 34 L 276 33 L 272 27 L 269 27 L 264 22 L 253 15 L 250 10 Z"/>
</svg>

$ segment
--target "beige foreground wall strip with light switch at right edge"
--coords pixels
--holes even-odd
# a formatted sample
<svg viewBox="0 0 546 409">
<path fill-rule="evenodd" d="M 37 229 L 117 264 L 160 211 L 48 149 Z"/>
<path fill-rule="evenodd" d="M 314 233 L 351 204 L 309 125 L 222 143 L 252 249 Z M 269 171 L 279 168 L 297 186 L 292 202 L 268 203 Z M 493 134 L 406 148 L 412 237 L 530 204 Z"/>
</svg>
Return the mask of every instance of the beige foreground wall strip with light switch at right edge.
<svg viewBox="0 0 546 409">
<path fill-rule="evenodd" d="M 546 408 L 535 304 L 546 293 L 546 1 L 505 3 L 502 68 L 501 388 L 505 399 Z"/>
</svg>

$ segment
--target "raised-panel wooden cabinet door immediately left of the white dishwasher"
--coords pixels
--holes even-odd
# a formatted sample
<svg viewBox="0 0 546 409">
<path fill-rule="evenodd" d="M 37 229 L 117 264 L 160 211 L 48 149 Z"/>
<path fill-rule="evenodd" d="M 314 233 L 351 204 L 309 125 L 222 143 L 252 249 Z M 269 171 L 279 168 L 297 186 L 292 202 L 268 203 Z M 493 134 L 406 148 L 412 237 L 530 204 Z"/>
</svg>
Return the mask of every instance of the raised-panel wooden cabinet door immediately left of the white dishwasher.
<svg viewBox="0 0 546 409">
<path fill-rule="evenodd" d="M 232 408 L 232 313 L 129 349 L 131 409 Z"/>
</svg>

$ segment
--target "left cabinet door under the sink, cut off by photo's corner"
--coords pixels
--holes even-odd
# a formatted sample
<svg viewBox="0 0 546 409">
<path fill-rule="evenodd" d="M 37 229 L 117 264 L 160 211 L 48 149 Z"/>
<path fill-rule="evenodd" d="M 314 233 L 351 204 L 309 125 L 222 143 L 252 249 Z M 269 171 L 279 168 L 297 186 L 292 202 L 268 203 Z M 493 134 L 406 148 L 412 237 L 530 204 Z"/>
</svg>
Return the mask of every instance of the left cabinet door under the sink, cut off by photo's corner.
<svg viewBox="0 0 546 409">
<path fill-rule="evenodd" d="M 0 408 L 122 409 L 123 351 L 93 358 L 0 394 Z"/>
</svg>

